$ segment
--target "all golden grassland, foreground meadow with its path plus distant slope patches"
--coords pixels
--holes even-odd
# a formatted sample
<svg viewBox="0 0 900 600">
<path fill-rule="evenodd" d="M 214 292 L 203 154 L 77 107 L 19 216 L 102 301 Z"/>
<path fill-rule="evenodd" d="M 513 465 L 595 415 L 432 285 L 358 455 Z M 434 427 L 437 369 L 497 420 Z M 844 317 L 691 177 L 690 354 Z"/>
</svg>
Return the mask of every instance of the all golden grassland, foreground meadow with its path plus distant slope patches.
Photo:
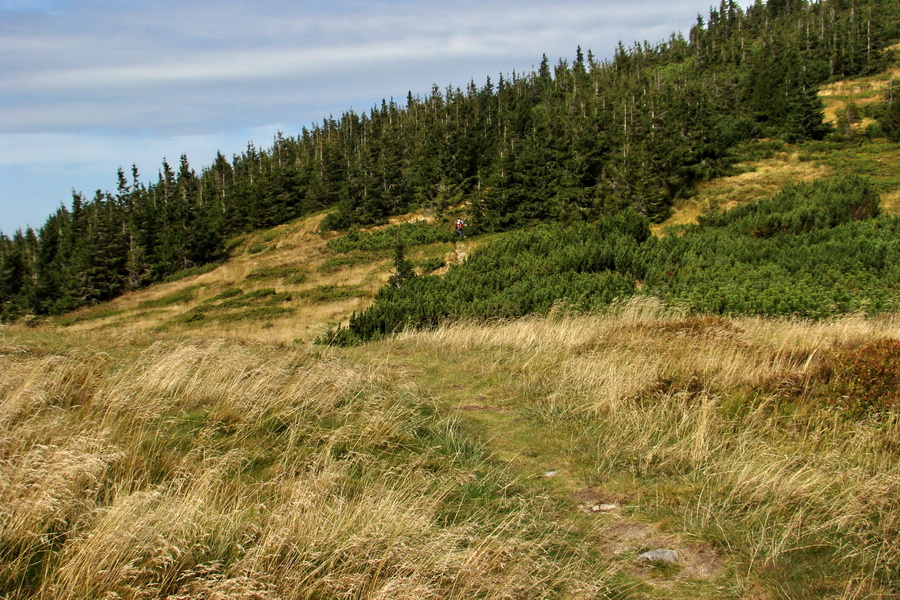
<svg viewBox="0 0 900 600">
<path fill-rule="evenodd" d="M 897 144 L 742 151 L 667 225 L 848 172 L 900 213 Z M 393 269 L 321 218 L 0 327 L 0 598 L 900 597 L 896 315 L 642 298 L 313 346 Z"/>
</svg>

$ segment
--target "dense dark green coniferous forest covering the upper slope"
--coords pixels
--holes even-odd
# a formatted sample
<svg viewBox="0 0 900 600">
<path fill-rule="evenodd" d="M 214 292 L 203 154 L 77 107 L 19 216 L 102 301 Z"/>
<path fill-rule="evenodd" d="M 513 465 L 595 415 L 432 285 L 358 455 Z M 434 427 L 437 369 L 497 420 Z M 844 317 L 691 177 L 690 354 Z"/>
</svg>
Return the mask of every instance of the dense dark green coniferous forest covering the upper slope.
<svg viewBox="0 0 900 600">
<path fill-rule="evenodd" d="M 634 246 L 640 260 L 602 280 L 585 280 L 602 288 L 586 288 L 585 298 L 619 296 L 635 279 L 678 298 L 691 296 L 678 277 L 690 279 L 685 273 L 697 271 L 693 265 L 666 279 L 651 268 L 663 263 L 645 254 L 671 258 L 695 234 L 645 247 L 646 222 L 664 219 L 692 184 L 727 173 L 730 150 L 743 141 L 828 135 L 817 86 L 882 68 L 884 48 L 900 37 L 898 15 L 897 0 L 758 0 L 746 10 L 722 0 L 698 16 L 687 38 L 620 43 L 606 60 L 581 48 L 571 61 L 551 64 L 544 56 L 534 72 L 464 88 L 434 86 L 427 96 L 410 93 L 367 113 L 328 117 L 296 136 L 278 132 L 270 148 L 248 145 L 230 160 L 219 153 L 199 172 L 184 156 L 176 166 L 163 161 L 152 183 L 136 168 L 120 169 L 115 190 L 73 192 L 70 206 L 39 229 L 0 234 L 0 315 L 13 320 L 106 301 L 220 260 L 236 234 L 323 209 L 332 209 L 323 228 L 348 229 L 415 208 L 440 214 L 463 203 L 471 233 L 558 223 L 548 225 L 558 231 L 529 235 L 573 235 L 560 233 L 573 231 L 564 226 L 608 229 L 616 232 L 609 238 L 618 244 L 610 250 L 616 260 L 631 256 L 625 247 Z M 895 100 L 884 111 L 889 137 L 898 106 Z M 856 197 L 868 193 L 865 182 L 840 185 Z M 893 227 L 896 237 L 896 223 L 878 225 L 862 202 L 863 212 L 852 219 L 836 209 L 839 223 L 828 227 L 865 219 L 871 224 L 846 226 Z M 701 229 L 728 232 L 721 244 L 738 235 L 771 239 L 759 223 L 777 219 L 783 219 L 776 224 L 779 236 L 823 231 L 823 223 L 800 214 L 802 206 L 796 214 L 770 211 L 768 221 L 719 217 L 724 220 Z M 812 225 L 796 225 L 803 219 L 813 219 Z M 747 234 L 742 227 L 763 229 Z M 697 252 L 680 256 L 721 262 Z M 759 265 L 760 273 L 776 268 Z M 551 300 L 547 294 L 534 300 L 536 306 Z M 738 310 L 722 299 L 691 298 L 685 301 L 703 310 Z M 824 300 L 828 310 L 810 305 L 794 312 L 859 308 L 839 300 Z"/>
</svg>

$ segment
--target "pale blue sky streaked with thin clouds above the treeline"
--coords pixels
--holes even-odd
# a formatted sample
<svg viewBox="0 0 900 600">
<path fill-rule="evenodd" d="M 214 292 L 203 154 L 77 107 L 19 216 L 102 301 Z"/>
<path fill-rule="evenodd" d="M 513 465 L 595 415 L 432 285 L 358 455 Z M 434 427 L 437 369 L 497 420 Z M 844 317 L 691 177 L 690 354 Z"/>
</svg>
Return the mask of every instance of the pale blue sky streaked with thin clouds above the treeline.
<svg viewBox="0 0 900 600">
<path fill-rule="evenodd" d="M 715 2 L 718 4 L 718 2 Z M 741 2 L 746 6 L 748 2 Z M 687 32 L 709 0 L 0 0 L 0 231 L 136 164 Z"/>
</svg>

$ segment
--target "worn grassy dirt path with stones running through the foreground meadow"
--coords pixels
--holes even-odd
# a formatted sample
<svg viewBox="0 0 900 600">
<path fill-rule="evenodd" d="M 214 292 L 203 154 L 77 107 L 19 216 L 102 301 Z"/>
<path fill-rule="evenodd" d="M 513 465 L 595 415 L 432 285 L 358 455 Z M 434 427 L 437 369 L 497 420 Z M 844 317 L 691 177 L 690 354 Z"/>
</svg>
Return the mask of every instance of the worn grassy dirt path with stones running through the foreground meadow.
<svg viewBox="0 0 900 600">
<path fill-rule="evenodd" d="M 395 359 L 397 357 L 392 357 Z M 619 576 L 633 582 L 635 598 L 743 598 L 729 591 L 729 569 L 712 546 L 673 531 L 642 513 L 640 498 L 589 485 L 590 459 L 576 434 L 531 418 L 527 406 L 503 394 L 503 378 L 477 356 L 404 356 L 406 376 L 452 411 L 509 466 L 527 493 L 562 507 L 557 518 L 578 543 L 588 544 Z M 412 367 L 412 368 L 409 368 Z M 465 374 L 463 381 L 460 374 Z M 676 564 L 638 559 L 648 550 L 678 553 Z"/>
</svg>

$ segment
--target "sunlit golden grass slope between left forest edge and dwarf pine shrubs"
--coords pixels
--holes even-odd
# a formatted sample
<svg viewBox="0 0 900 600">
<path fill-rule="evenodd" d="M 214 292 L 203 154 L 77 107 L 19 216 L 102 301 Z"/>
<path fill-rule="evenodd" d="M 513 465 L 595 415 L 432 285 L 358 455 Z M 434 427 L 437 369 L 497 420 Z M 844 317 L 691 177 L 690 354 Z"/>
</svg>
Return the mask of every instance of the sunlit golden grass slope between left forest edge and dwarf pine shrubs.
<svg viewBox="0 0 900 600">
<path fill-rule="evenodd" d="M 55 318 L 73 331 L 200 332 L 228 339 L 311 342 L 368 306 L 391 272 L 391 251 L 341 253 L 322 215 L 232 240 L 222 264 Z M 466 244 L 412 248 L 410 259 L 452 263 Z"/>
</svg>

